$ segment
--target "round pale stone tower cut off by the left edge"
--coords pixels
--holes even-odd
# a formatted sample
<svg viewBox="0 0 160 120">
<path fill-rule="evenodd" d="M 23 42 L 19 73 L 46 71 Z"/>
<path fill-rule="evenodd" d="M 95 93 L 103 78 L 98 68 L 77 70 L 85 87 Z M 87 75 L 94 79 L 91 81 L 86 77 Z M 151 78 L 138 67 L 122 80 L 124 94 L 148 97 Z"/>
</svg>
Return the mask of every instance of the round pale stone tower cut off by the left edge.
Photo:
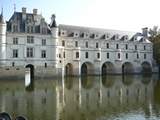
<svg viewBox="0 0 160 120">
<path fill-rule="evenodd" d="M 0 14 L 0 59 L 0 66 L 3 66 L 6 60 L 6 22 L 3 18 L 3 9 Z"/>
</svg>

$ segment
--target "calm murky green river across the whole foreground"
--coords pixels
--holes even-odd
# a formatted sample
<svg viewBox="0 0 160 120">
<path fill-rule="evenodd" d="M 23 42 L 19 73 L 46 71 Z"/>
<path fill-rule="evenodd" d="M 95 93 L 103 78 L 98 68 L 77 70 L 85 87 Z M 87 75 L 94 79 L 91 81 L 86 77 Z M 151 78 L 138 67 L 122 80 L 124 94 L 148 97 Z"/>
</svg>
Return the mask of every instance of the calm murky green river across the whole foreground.
<svg viewBox="0 0 160 120">
<path fill-rule="evenodd" d="M 0 111 L 28 120 L 160 120 L 157 75 L 0 81 Z"/>
</svg>

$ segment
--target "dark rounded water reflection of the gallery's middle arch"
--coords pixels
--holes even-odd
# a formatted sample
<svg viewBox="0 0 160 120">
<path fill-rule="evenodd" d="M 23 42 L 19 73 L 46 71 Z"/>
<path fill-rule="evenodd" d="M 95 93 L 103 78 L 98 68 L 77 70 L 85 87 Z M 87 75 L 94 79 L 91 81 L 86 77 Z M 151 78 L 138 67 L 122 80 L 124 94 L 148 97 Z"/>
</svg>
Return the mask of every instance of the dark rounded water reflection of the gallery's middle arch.
<svg viewBox="0 0 160 120">
<path fill-rule="evenodd" d="M 115 83 L 115 76 L 102 76 L 102 84 L 106 88 L 111 88 Z"/>
</svg>

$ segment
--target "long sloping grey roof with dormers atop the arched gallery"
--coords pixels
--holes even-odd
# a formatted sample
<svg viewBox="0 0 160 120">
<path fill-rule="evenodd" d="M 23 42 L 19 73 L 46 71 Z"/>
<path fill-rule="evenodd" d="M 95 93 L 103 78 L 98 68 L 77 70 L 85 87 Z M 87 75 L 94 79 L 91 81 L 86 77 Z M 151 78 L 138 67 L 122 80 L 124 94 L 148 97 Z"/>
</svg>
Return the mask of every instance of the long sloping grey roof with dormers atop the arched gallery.
<svg viewBox="0 0 160 120">
<path fill-rule="evenodd" d="M 64 25 L 60 24 L 59 31 L 65 30 L 67 31 L 67 34 L 72 34 L 74 31 L 78 32 L 80 34 L 83 33 L 89 33 L 89 34 L 99 34 L 101 35 L 101 38 L 104 37 L 104 35 L 110 35 L 110 39 L 115 38 L 116 35 L 118 35 L 119 40 L 124 40 L 124 37 L 127 36 L 128 41 L 139 41 L 139 42 L 147 42 L 151 43 L 147 38 L 145 38 L 142 33 L 139 32 L 131 32 L 131 31 L 121 31 L 121 30 L 112 30 L 112 29 L 103 29 L 103 28 L 92 28 L 92 27 L 82 27 L 82 26 L 73 26 L 73 25 Z M 141 37 L 141 39 L 135 38 Z M 143 38 L 143 40 L 142 40 Z"/>
</svg>

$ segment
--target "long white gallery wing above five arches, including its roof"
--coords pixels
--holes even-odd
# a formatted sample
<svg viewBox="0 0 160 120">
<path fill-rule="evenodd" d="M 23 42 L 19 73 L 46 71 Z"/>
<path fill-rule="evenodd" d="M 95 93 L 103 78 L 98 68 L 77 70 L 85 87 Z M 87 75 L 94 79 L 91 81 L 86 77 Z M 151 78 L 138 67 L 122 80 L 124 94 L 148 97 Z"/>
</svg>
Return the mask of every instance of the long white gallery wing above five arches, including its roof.
<svg viewBox="0 0 160 120">
<path fill-rule="evenodd" d="M 84 64 L 95 75 L 152 71 L 152 43 L 140 33 L 59 25 L 59 45 L 65 73 L 80 75 Z"/>
</svg>

